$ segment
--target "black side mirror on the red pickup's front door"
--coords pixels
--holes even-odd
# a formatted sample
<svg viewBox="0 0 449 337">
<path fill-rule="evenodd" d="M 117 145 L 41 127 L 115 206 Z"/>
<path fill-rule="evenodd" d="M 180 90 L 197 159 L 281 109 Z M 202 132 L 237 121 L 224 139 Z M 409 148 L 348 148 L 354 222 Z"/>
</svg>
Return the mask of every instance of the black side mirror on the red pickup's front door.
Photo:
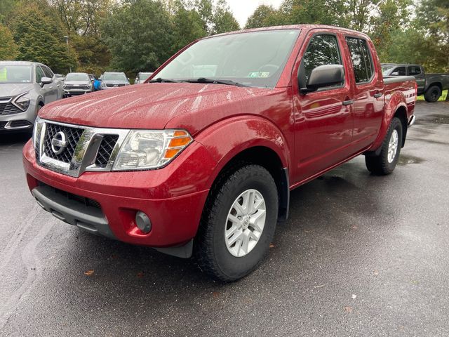
<svg viewBox="0 0 449 337">
<path fill-rule="evenodd" d="M 320 65 L 314 68 L 307 80 L 306 88 L 300 88 L 301 93 L 309 93 L 326 86 L 335 86 L 344 81 L 342 65 Z"/>
</svg>

